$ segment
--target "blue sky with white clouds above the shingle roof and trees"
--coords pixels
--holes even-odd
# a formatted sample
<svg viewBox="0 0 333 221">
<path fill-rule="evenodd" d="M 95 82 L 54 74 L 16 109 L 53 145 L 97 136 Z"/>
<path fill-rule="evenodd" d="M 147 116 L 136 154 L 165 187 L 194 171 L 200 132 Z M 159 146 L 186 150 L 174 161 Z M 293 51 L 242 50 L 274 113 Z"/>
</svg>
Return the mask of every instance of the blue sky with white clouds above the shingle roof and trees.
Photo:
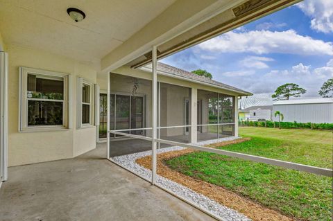
<svg viewBox="0 0 333 221">
<path fill-rule="evenodd" d="M 161 60 L 254 94 L 284 83 L 318 96 L 333 78 L 333 0 L 305 0 Z"/>
</svg>

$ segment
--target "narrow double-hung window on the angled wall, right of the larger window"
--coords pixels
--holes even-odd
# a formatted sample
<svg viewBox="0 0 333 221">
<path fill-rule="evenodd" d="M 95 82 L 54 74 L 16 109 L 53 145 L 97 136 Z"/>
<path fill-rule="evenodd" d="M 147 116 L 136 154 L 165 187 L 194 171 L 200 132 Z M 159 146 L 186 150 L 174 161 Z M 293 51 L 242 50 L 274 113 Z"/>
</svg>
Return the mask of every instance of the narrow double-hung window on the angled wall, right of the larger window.
<svg viewBox="0 0 333 221">
<path fill-rule="evenodd" d="M 93 125 L 94 84 L 78 78 L 78 128 Z"/>
</svg>

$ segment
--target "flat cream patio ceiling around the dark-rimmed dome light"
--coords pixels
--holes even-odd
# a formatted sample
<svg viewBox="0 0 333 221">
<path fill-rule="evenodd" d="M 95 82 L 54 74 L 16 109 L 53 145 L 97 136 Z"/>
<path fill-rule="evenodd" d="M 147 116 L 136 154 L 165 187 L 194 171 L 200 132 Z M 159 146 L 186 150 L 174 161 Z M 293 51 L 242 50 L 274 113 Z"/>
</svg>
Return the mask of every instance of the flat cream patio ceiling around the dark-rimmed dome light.
<svg viewBox="0 0 333 221">
<path fill-rule="evenodd" d="M 100 60 L 176 0 L 0 0 L 5 44 L 65 55 L 99 67 Z M 67 8 L 86 18 L 76 23 Z"/>
</svg>

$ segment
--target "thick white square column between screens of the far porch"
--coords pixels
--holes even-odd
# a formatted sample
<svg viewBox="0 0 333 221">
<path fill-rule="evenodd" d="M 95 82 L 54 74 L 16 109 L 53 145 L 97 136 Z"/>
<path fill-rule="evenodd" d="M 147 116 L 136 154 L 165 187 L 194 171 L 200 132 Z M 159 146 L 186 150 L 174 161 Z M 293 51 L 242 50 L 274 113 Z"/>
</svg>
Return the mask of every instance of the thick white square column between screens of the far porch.
<svg viewBox="0 0 333 221">
<path fill-rule="evenodd" d="M 192 87 L 191 88 L 191 143 L 198 142 L 198 89 Z"/>
</svg>

